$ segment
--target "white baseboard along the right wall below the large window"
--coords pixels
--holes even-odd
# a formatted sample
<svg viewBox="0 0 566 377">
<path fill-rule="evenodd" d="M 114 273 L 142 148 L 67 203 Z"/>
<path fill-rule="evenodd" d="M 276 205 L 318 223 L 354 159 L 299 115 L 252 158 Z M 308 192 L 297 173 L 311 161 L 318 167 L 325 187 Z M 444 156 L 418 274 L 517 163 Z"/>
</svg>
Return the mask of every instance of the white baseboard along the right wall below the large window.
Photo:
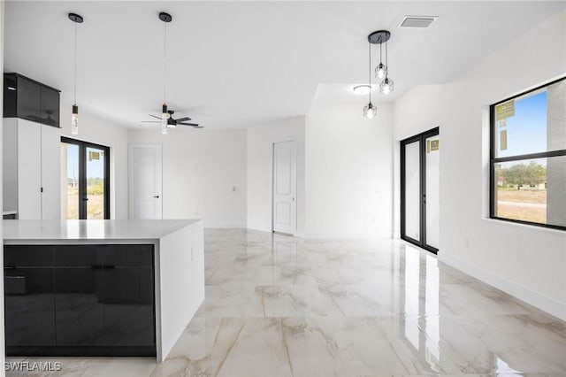
<svg viewBox="0 0 566 377">
<path fill-rule="evenodd" d="M 439 260 L 480 281 L 486 282 L 496 289 L 501 289 L 503 292 L 508 293 L 511 296 L 515 296 L 527 304 L 532 304 L 532 306 L 539 308 L 541 311 L 552 314 L 559 319 L 566 320 L 566 304 L 562 304 L 551 298 L 542 296 L 539 293 L 512 281 L 507 281 L 501 278 L 501 276 L 488 273 L 473 265 L 468 265 L 457 258 L 447 256 L 442 252 L 439 253 Z"/>
</svg>

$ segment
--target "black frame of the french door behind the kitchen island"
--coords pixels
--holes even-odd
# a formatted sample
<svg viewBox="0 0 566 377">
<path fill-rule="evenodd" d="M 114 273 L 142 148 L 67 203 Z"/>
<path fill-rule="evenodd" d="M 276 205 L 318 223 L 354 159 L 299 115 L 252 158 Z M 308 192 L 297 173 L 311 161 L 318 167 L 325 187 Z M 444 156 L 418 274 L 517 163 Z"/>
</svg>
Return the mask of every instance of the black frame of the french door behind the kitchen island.
<svg viewBox="0 0 566 377">
<path fill-rule="evenodd" d="M 104 219 L 110 219 L 110 147 L 66 136 L 61 136 L 61 142 L 79 146 L 79 219 L 87 219 L 87 148 L 104 151 Z"/>
</svg>

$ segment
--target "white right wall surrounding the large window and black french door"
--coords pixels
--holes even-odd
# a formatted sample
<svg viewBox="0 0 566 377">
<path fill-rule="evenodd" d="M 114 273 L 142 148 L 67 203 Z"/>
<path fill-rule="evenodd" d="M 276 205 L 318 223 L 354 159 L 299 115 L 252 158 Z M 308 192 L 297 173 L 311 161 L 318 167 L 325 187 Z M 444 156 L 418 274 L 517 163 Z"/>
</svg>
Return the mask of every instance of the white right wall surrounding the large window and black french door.
<svg viewBox="0 0 566 377">
<path fill-rule="evenodd" d="M 488 106 L 564 75 L 565 25 L 562 11 L 456 80 L 416 88 L 394 104 L 395 178 L 398 141 L 440 126 L 440 260 L 562 319 L 566 234 L 487 219 Z"/>
</svg>

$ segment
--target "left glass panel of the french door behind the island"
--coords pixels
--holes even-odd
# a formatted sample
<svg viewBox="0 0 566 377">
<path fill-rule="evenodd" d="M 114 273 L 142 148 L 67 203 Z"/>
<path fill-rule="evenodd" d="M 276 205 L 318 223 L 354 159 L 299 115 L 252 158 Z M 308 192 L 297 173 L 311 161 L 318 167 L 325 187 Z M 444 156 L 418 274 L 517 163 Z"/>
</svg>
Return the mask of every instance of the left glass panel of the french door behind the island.
<svg viewBox="0 0 566 377">
<path fill-rule="evenodd" d="M 79 146 L 61 142 L 61 219 L 79 219 Z"/>
</svg>

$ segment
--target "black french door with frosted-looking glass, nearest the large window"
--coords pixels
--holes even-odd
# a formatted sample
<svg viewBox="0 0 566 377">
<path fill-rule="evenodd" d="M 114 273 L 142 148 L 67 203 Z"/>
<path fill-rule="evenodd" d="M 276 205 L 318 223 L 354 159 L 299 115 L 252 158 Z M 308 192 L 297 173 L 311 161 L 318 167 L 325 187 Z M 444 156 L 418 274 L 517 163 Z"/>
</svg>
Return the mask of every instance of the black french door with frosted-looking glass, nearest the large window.
<svg viewBox="0 0 566 377">
<path fill-rule="evenodd" d="M 401 238 L 436 254 L 440 238 L 439 128 L 401 142 Z"/>
</svg>

